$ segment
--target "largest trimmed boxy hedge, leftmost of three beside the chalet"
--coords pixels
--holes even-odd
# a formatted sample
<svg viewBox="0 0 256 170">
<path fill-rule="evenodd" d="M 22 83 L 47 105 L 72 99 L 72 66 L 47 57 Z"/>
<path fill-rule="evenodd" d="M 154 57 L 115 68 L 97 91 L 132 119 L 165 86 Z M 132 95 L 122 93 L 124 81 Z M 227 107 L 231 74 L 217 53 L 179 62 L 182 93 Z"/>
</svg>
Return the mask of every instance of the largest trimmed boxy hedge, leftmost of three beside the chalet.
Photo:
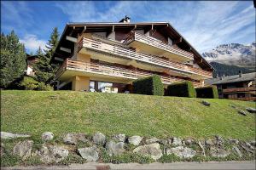
<svg viewBox="0 0 256 170">
<path fill-rule="evenodd" d="M 139 78 L 132 82 L 134 94 L 164 95 L 164 84 L 158 75 Z"/>
</svg>

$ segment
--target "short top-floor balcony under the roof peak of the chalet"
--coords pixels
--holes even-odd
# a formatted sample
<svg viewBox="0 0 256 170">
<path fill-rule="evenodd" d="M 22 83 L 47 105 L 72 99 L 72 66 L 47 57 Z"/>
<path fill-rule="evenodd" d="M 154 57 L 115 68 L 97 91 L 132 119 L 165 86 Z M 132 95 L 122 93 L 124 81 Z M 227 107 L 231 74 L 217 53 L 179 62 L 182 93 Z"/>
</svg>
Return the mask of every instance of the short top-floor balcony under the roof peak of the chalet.
<svg viewBox="0 0 256 170">
<path fill-rule="evenodd" d="M 139 48 L 150 54 L 163 55 L 177 62 L 185 62 L 194 59 L 194 54 L 183 49 L 172 47 L 154 37 L 147 37 L 137 32 L 131 32 L 123 42 L 129 47 Z"/>
</svg>

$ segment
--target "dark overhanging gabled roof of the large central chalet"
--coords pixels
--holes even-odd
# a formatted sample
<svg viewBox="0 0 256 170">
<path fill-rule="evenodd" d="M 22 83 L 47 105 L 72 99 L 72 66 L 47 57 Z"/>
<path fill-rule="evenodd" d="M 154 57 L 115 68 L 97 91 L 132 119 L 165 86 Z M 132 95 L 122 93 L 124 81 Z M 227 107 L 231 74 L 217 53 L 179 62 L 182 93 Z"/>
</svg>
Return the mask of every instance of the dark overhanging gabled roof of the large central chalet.
<svg viewBox="0 0 256 170">
<path fill-rule="evenodd" d="M 112 31 L 113 26 L 115 30 L 127 30 L 131 31 L 134 28 L 136 29 L 144 29 L 150 30 L 152 26 L 154 29 L 159 29 L 162 32 L 165 32 L 169 37 L 173 39 L 182 38 L 182 42 L 178 44 L 180 48 L 190 48 L 191 52 L 195 54 L 195 59 L 199 61 L 199 65 L 207 71 L 212 71 L 214 68 L 210 65 L 206 59 L 204 59 L 201 54 L 197 52 L 197 50 L 183 37 L 177 30 L 168 22 L 160 21 L 160 22 L 137 22 L 137 23 L 122 23 L 122 22 L 69 22 L 64 28 L 64 31 L 61 34 L 60 42 L 55 49 L 54 57 L 62 58 L 63 56 L 67 56 L 65 52 L 60 50 L 60 47 L 68 48 L 73 47 L 73 42 L 69 42 L 66 40 L 66 36 L 77 37 L 78 34 L 84 31 L 86 26 L 86 31 Z M 66 45 L 66 47 L 65 47 Z M 53 61 L 52 61 L 53 62 Z"/>
</svg>

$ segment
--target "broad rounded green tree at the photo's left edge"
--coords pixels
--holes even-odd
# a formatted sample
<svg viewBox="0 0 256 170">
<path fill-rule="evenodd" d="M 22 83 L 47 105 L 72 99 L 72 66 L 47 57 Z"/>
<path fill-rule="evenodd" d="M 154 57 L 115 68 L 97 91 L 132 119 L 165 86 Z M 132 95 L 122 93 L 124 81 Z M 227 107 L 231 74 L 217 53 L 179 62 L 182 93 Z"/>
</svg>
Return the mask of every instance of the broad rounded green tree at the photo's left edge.
<svg viewBox="0 0 256 170">
<path fill-rule="evenodd" d="M 1 34 L 1 82 L 0 88 L 8 88 L 16 79 L 24 75 L 26 70 L 25 47 L 19 42 L 15 31 L 8 35 Z"/>
</svg>

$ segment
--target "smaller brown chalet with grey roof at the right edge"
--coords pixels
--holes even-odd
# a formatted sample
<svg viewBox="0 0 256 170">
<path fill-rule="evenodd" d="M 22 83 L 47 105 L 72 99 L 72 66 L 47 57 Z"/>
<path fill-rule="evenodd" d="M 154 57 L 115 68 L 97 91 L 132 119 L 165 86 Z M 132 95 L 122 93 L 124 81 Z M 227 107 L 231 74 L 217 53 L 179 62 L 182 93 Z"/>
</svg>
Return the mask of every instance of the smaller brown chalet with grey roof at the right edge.
<svg viewBox="0 0 256 170">
<path fill-rule="evenodd" d="M 218 77 L 206 80 L 218 88 L 218 97 L 225 99 L 256 100 L 256 72 L 230 77 Z"/>
</svg>

